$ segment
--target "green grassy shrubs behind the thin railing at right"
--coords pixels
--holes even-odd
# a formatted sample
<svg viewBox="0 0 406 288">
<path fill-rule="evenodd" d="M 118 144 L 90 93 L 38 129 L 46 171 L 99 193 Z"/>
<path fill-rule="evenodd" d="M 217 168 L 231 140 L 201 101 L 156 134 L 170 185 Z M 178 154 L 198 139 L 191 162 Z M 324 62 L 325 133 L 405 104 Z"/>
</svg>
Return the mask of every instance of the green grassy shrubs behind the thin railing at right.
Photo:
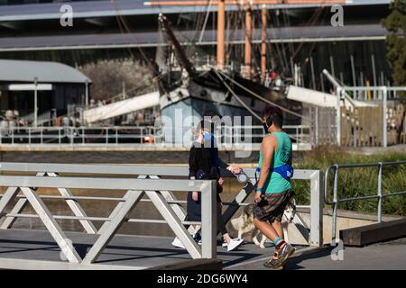
<svg viewBox="0 0 406 288">
<path fill-rule="evenodd" d="M 305 154 L 294 162 L 295 168 L 320 169 L 324 172 L 335 164 L 367 164 L 406 160 L 406 153 L 386 152 L 374 155 L 362 155 L 346 152 L 342 148 L 320 147 Z M 339 169 L 338 199 L 376 195 L 378 191 L 378 167 L 357 167 Z M 333 198 L 334 169 L 328 176 L 328 200 Z M 309 182 L 293 181 L 296 200 L 300 204 L 309 204 Z M 382 175 L 383 194 L 406 191 L 406 165 L 384 166 Z M 343 202 L 338 208 L 351 211 L 376 212 L 377 199 Z M 406 215 L 406 194 L 383 198 L 383 213 Z"/>
</svg>

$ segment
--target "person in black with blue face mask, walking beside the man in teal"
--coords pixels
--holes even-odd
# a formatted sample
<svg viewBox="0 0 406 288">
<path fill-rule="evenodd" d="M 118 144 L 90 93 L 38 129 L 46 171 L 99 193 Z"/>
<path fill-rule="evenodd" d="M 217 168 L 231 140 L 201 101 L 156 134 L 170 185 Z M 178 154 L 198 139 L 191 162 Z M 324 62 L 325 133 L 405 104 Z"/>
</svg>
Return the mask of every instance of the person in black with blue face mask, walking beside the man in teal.
<svg viewBox="0 0 406 288">
<path fill-rule="evenodd" d="M 211 121 L 200 121 L 196 130 L 196 140 L 189 151 L 189 179 L 217 180 L 217 231 L 221 232 L 225 240 L 223 247 L 228 251 L 235 250 L 243 243 L 243 239 L 231 238 L 226 230 L 226 224 L 222 217 L 222 205 L 219 193 L 223 191 L 224 180 L 220 175 L 220 168 L 227 169 L 232 173 L 240 173 L 241 168 L 227 165 L 218 157 L 218 149 L 213 135 L 214 124 Z M 200 193 L 197 191 L 188 193 L 188 216 L 189 221 L 201 221 Z M 200 239 L 199 227 L 193 238 Z M 183 247 L 180 240 L 175 238 L 174 246 Z"/>
</svg>

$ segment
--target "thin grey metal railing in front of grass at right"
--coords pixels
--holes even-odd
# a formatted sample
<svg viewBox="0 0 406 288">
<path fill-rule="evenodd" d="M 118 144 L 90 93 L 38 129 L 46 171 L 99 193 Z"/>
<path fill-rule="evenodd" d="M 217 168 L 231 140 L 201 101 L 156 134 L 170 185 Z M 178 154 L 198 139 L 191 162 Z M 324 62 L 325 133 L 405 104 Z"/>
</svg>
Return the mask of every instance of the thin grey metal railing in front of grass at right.
<svg viewBox="0 0 406 288">
<path fill-rule="evenodd" d="M 382 221 L 382 200 L 385 197 L 392 197 L 395 195 L 401 195 L 404 194 L 406 195 L 406 190 L 401 191 L 401 192 L 391 192 L 391 193 L 385 193 L 383 194 L 382 190 L 382 174 L 383 174 L 383 166 L 400 166 L 400 165 L 406 165 L 406 161 L 397 161 L 397 162 L 379 162 L 379 163 L 374 163 L 374 164 L 349 164 L 349 165 L 333 165 L 333 166 L 328 166 L 326 170 L 326 175 L 325 175 L 325 184 L 324 184 L 324 200 L 326 204 L 332 206 L 333 214 L 332 214 L 332 241 L 333 244 L 336 241 L 337 238 L 337 208 L 339 203 L 343 202 L 352 202 L 352 201 L 364 201 L 364 200 L 373 200 L 373 199 L 378 199 L 378 204 L 377 204 L 377 221 L 381 222 Z M 342 198 L 338 199 L 338 171 L 341 169 L 354 169 L 354 168 L 361 168 L 361 167 L 377 167 L 377 180 L 378 180 L 378 185 L 377 185 L 377 192 L 376 194 L 371 194 L 367 196 L 358 196 L 358 197 L 350 197 L 350 198 Z M 334 170 L 334 180 L 333 180 L 333 200 L 328 201 L 328 175 L 331 170 Z M 405 184 L 405 189 L 406 189 L 406 182 Z"/>
</svg>

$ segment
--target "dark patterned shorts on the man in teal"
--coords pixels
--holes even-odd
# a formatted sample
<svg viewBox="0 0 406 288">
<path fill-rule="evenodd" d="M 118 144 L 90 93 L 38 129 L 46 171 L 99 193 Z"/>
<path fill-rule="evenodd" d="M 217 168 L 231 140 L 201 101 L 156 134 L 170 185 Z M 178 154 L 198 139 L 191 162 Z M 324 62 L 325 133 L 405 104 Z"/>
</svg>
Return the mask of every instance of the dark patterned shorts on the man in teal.
<svg viewBox="0 0 406 288">
<path fill-rule="evenodd" d="M 271 223 L 274 220 L 281 222 L 283 212 L 293 195 L 294 193 L 291 190 L 281 193 L 265 193 L 263 201 L 255 204 L 254 217 Z"/>
</svg>

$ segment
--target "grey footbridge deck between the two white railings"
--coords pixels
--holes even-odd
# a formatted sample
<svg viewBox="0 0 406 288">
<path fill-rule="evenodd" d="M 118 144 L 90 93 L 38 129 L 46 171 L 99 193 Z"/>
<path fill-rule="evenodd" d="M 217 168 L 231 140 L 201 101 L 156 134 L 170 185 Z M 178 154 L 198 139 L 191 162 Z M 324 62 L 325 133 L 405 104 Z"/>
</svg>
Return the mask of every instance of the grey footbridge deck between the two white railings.
<svg viewBox="0 0 406 288">
<path fill-rule="evenodd" d="M 97 236 L 85 233 L 68 232 L 78 254 L 83 257 L 96 241 Z M 175 265 L 190 260 L 184 249 L 171 246 L 173 238 L 116 235 L 103 253 L 88 269 L 145 269 L 162 265 Z M 269 257 L 273 252 L 271 243 L 267 248 L 247 243 L 237 250 L 227 252 L 225 247 L 217 246 L 217 258 L 223 260 L 223 266 L 239 266 L 255 260 Z M 303 248 L 303 247 L 298 247 Z M 0 268 L 39 268 L 59 269 L 60 247 L 51 238 L 48 231 L 28 229 L 0 230 Z M 63 257 L 62 257 L 63 258 Z M 27 265 L 20 260 L 26 261 Z M 48 264 L 47 264 L 48 262 Z M 72 268 L 78 268 L 73 267 Z"/>
</svg>

